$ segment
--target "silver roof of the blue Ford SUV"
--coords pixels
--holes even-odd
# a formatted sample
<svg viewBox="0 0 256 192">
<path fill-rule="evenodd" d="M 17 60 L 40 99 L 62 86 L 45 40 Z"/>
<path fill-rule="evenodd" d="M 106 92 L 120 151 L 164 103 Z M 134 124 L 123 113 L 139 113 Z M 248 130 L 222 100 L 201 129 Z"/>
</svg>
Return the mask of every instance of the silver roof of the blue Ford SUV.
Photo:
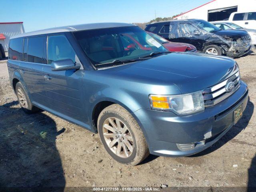
<svg viewBox="0 0 256 192">
<path fill-rule="evenodd" d="M 33 32 L 27 32 L 13 36 L 12 38 L 33 36 L 33 35 L 42 35 L 42 34 L 51 34 L 59 32 L 71 32 L 71 31 L 81 31 L 81 30 L 90 30 L 90 29 L 101 29 L 101 28 L 114 28 L 114 27 L 126 27 L 126 26 L 135 26 L 134 24 L 128 23 L 90 23 L 90 24 L 80 24 L 80 25 L 70 25 L 64 27 L 55 27 L 44 30 L 38 30 Z"/>
</svg>

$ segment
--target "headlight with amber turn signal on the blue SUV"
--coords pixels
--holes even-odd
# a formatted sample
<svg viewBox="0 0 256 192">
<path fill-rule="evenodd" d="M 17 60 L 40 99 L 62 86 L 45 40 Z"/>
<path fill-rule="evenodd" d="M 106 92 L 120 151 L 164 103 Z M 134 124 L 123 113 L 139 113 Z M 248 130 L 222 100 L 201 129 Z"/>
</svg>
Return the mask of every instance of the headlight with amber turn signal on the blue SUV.
<svg viewBox="0 0 256 192">
<path fill-rule="evenodd" d="M 204 110 L 202 91 L 181 95 L 150 95 L 152 109 L 170 110 L 180 115 L 187 115 Z"/>
</svg>

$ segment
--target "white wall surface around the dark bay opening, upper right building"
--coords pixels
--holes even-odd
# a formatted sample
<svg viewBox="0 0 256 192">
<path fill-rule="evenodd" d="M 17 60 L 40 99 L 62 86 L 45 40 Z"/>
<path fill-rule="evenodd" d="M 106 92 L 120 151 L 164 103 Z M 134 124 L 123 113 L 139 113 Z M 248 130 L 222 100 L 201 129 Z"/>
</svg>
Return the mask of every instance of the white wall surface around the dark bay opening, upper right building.
<svg viewBox="0 0 256 192">
<path fill-rule="evenodd" d="M 214 0 L 204 6 L 201 6 L 190 12 L 182 14 L 174 19 L 203 19 L 207 21 L 208 10 L 227 8 L 233 6 L 238 6 L 238 11 L 255 11 L 256 0 Z"/>
</svg>

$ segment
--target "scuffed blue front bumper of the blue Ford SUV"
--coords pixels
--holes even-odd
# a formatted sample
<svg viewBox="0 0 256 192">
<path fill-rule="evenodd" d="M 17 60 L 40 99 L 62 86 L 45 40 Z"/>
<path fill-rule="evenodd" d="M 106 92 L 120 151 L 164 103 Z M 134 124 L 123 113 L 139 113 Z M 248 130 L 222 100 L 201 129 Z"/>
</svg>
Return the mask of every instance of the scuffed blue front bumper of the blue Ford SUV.
<svg viewBox="0 0 256 192">
<path fill-rule="evenodd" d="M 248 101 L 248 86 L 240 88 L 226 100 L 203 112 L 177 116 L 172 112 L 142 108 L 134 112 L 144 131 L 151 154 L 159 156 L 190 156 L 218 141 L 234 125 L 234 110 Z M 209 137 L 210 136 L 210 137 Z M 177 144 L 191 144 L 191 150 L 180 150 Z"/>
</svg>

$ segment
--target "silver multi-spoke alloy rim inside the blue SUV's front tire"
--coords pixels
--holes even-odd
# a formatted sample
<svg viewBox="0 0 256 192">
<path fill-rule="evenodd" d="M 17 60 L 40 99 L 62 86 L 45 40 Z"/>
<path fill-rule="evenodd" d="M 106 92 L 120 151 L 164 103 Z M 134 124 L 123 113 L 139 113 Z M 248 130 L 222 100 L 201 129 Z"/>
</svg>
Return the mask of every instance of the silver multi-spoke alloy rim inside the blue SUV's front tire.
<svg viewBox="0 0 256 192">
<path fill-rule="evenodd" d="M 110 150 L 121 158 L 128 158 L 134 150 L 134 140 L 128 127 L 118 118 L 107 118 L 102 126 L 103 136 Z"/>
</svg>

